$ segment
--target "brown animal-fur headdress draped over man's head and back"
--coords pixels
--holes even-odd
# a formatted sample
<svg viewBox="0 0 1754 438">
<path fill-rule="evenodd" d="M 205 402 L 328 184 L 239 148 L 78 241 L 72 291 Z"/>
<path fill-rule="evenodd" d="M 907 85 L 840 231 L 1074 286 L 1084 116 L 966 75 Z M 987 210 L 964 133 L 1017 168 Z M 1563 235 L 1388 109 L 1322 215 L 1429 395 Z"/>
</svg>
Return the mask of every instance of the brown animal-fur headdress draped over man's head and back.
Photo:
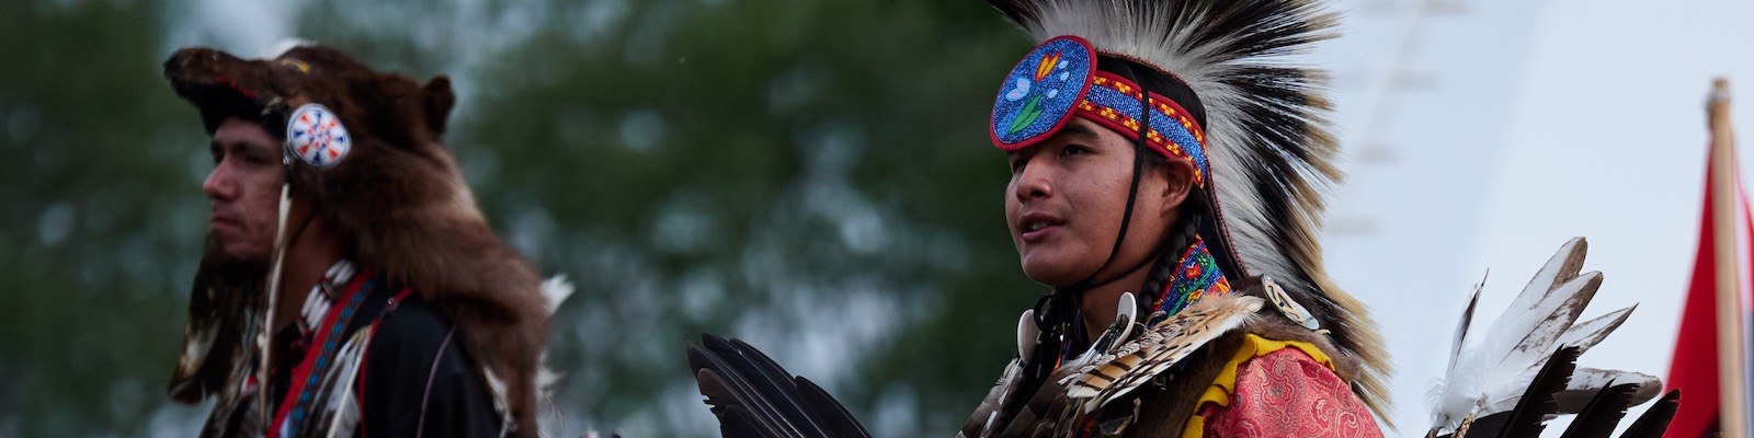
<svg viewBox="0 0 1754 438">
<path fill-rule="evenodd" d="M 335 49 L 300 46 L 274 60 L 240 60 L 202 47 L 165 61 L 165 77 L 212 133 L 225 119 L 281 135 L 305 103 L 333 110 L 351 152 L 328 168 L 289 166 L 291 191 L 340 231 L 346 254 L 409 286 L 454 321 L 470 356 L 505 384 L 516 434 L 535 434 L 538 356 L 549 312 L 542 279 L 488 226 L 442 135 L 456 96 L 444 75 L 424 84 L 375 72 Z M 189 300 L 175 399 L 225 398 L 254 345 L 239 333 L 261 324 L 258 291 L 217 291 L 203 261 Z"/>
</svg>

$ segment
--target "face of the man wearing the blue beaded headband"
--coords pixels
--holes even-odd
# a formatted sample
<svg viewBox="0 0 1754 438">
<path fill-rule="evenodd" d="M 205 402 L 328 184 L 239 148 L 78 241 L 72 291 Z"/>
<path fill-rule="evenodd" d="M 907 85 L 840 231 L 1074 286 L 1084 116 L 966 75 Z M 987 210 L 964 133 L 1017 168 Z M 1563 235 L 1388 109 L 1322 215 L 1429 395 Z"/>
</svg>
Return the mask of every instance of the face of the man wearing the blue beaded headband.
<svg viewBox="0 0 1754 438">
<path fill-rule="evenodd" d="M 1161 166 L 1144 166 L 1138 201 L 1121 251 L 1116 233 L 1133 182 L 1133 142 L 1102 124 L 1073 117 L 1054 137 L 1009 152 L 1010 186 L 1005 223 L 1031 280 L 1063 287 L 1112 277 L 1149 259 L 1163 238 L 1168 212 L 1180 198 L 1168 193 Z M 1103 268 L 1107 265 L 1107 268 Z"/>
</svg>

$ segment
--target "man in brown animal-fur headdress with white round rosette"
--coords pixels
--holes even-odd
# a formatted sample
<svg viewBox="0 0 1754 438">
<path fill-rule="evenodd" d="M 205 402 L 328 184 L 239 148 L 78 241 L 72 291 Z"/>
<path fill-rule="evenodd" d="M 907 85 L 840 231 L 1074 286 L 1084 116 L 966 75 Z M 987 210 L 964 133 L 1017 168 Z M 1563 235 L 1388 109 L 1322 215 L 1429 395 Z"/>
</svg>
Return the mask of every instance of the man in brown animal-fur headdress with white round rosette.
<svg viewBox="0 0 1754 438">
<path fill-rule="evenodd" d="M 181 49 L 210 228 L 170 380 L 203 436 L 535 436 L 549 312 L 442 135 L 451 82 Z"/>
</svg>

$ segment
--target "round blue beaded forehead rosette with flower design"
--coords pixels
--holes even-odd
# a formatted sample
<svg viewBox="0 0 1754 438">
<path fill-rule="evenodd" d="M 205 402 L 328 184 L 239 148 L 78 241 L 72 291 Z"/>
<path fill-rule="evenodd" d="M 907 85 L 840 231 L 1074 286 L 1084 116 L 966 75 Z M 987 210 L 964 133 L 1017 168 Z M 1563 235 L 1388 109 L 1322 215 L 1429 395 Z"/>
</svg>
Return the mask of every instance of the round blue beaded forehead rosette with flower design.
<svg viewBox="0 0 1754 438">
<path fill-rule="evenodd" d="M 1096 47 L 1084 39 L 1058 37 L 1037 46 L 1010 68 L 993 102 L 993 145 L 1016 151 L 1059 131 L 1094 72 Z"/>
</svg>

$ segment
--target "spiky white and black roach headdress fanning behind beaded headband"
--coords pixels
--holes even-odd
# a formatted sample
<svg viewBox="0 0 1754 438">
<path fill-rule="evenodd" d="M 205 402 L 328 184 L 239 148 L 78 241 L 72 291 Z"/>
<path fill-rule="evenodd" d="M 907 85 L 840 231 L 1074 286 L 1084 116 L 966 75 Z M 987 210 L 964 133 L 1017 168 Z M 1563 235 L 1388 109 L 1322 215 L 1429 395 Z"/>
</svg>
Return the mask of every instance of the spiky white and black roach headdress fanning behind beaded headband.
<svg viewBox="0 0 1754 438">
<path fill-rule="evenodd" d="M 1161 138 L 1152 138 L 1159 145 L 1154 151 L 1194 163 L 1196 182 L 1201 182 L 1212 200 L 1210 214 L 1219 228 L 1216 238 L 1230 249 L 1230 261 L 1245 275 L 1270 275 L 1298 301 L 1314 303 L 1308 310 L 1331 329 L 1340 354 L 1363 363 L 1359 373 L 1345 378 L 1380 413 L 1387 398 L 1382 382 L 1389 373 L 1387 354 L 1365 307 L 1328 279 L 1316 238 L 1324 189 L 1342 177 L 1333 163 L 1338 145 L 1328 131 L 1330 103 L 1321 93 L 1326 75 L 1284 60 L 1312 42 L 1333 37 L 1335 14 L 1323 11 L 1316 0 L 989 4 L 1044 47 L 1065 40 L 1061 37 L 1080 39 L 1094 49 L 1094 56 L 1103 58 L 1105 65 L 1096 67 L 1096 75 L 1110 70 L 1107 65 L 1144 65 L 1145 68 L 1128 68 L 1133 72 L 1124 75 L 1131 77 L 1123 77 L 1152 95 L 1166 96 L 1175 109 L 1186 107 L 1184 114 L 1194 114 L 1194 121 L 1182 121 L 1191 128 L 1189 137 L 1200 137 L 1180 147 L 1191 151 L 1165 147 Z M 1059 53 L 1052 56 L 1052 61 L 1059 60 Z M 1103 79 L 1096 81 L 1102 84 Z M 1089 96 L 1094 100 L 1098 88 L 1087 89 L 1093 89 Z M 1066 91 L 1082 93 L 1073 88 Z M 1126 88 L 1121 91 L 1126 93 Z M 1187 91 L 1191 96 L 1186 96 Z M 1003 98 L 1002 91 L 1002 107 Z M 1154 107 L 1159 98 L 1152 96 Z M 1135 93 L 1131 103 L 1119 103 L 1131 105 L 1131 114 L 1138 114 L 1138 102 Z M 1087 107 L 1082 110 L 1091 112 Z M 1116 110 L 1119 107 L 1110 109 Z M 1119 112 L 1128 116 L 1128 110 Z M 1170 121 L 1177 119 L 1177 112 L 1168 107 L 1165 114 Z M 995 144 L 1002 149 L 1024 144 L 1007 144 L 1000 131 L 1005 128 L 1000 126 L 1014 126 L 1014 131 L 1026 135 L 1042 133 L 1016 128 L 1037 121 L 1033 114 L 1021 123 L 1003 117 L 1002 121 L 1000 110 L 995 110 Z M 1128 128 L 1137 131 L 1137 124 Z M 1151 123 L 1166 124 L 1173 123 Z M 1052 130 L 1058 126 L 1045 133 Z M 1168 131 L 1165 135 L 1173 137 Z M 1210 175 L 1200 180 L 1205 172 Z"/>
</svg>

